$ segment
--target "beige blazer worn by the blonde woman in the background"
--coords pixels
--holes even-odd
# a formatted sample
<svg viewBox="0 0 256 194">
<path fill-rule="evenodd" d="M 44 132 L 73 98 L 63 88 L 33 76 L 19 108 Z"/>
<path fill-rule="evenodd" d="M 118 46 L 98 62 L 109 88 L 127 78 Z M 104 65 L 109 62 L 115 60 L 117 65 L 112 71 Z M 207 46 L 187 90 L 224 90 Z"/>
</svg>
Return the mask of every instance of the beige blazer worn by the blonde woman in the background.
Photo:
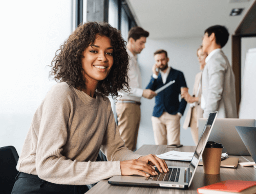
<svg viewBox="0 0 256 194">
<path fill-rule="evenodd" d="M 198 87 L 200 85 L 201 82 L 201 77 L 202 77 L 202 71 L 200 71 L 197 75 L 196 75 L 196 79 L 195 79 L 195 84 L 193 87 L 193 95 L 197 94 L 197 90 Z M 198 118 L 202 118 L 203 117 L 203 110 L 201 109 L 201 94 L 202 94 L 202 88 L 200 87 L 200 90 L 198 92 L 198 102 L 196 103 L 195 108 L 197 109 L 197 127 L 198 127 Z M 185 118 L 185 122 L 183 124 L 183 128 L 187 129 L 189 127 L 190 124 L 190 120 L 191 120 L 191 114 L 192 114 L 192 107 L 189 106 L 189 109 L 187 111 L 187 115 Z"/>
</svg>

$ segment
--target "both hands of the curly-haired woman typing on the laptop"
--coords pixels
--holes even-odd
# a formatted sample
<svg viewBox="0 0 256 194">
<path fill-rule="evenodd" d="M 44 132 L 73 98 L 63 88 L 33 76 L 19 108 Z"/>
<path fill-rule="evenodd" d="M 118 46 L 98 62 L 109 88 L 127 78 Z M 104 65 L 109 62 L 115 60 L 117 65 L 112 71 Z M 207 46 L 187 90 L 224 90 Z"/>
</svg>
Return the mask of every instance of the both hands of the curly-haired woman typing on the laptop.
<svg viewBox="0 0 256 194">
<path fill-rule="evenodd" d="M 141 175 L 149 177 L 151 175 L 158 175 L 155 171 L 156 165 L 160 172 L 168 172 L 167 164 L 164 160 L 156 157 L 155 155 L 142 156 L 139 159 L 125 160 L 120 162 L 121 174 L 122 175 Z M 162 167 L 162 168 L 161 168 Z M 148 173 L 148 174 L 147 174 Z"/>
</svg>

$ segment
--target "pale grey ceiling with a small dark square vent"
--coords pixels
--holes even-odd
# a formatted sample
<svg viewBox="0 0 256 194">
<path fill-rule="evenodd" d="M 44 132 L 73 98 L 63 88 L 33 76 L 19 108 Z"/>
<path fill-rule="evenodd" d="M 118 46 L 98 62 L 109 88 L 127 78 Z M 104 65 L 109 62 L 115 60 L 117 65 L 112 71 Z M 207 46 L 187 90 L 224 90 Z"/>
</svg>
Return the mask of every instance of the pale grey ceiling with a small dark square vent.
<svg viewBox="0 0 256 194">
<path fill-rule="evenodd" d="M 150 32 L 150 39 L 166 39 L 203 36 L 213 25 L 224 25 L 232 34 L 256 0 L 126 1 L 138 25 Z M 244 10 L 239 16 L 229 16 L 234 8 Z"/>
</svg>

